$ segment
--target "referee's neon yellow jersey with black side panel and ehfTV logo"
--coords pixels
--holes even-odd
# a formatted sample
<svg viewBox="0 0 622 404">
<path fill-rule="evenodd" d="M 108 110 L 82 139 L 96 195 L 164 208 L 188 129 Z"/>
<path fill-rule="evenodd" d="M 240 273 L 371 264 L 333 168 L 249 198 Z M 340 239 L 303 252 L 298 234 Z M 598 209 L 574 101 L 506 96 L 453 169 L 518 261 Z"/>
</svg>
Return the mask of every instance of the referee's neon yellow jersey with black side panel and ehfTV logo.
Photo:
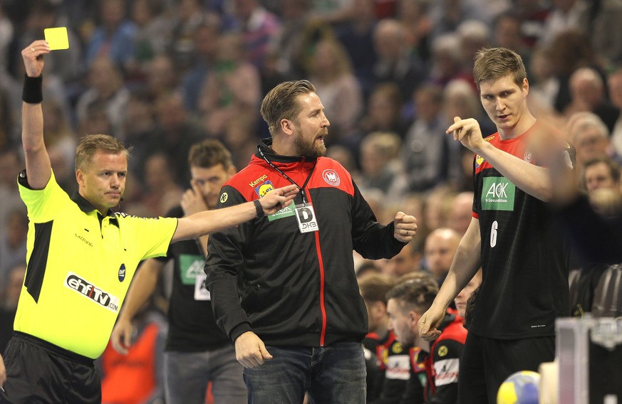
<svg viewBox="0 0 622 404">
<path fill-rule="evenodd" d="M 141 260 L 166 255 L 176 218 L 102 216 L 52 173 L 42 190 L 19 193 L 28 208 L 28 269 L 14 329 L 98 358 Z"/>
</svg>

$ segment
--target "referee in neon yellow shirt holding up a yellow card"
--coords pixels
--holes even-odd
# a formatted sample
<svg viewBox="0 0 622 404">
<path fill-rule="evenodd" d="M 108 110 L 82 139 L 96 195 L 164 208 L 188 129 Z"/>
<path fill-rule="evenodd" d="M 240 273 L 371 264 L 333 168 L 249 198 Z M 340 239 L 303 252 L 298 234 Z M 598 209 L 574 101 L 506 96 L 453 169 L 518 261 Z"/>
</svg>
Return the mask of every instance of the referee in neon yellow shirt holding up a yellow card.
<svg viewBox="0 0 622 404">
<path fill-rule="evenodd" d="M 26 170 L 18 182 L 28 208 L 27 271 L 0 403 L 100 403 L 93 359 L 105 349 L 138 263 L 165 255 L 175 241 L 276 213 L 298 189 L 286 186 L 254 203 L 187 218 L 126 216 L 111 208 L 125 191 L 129 152 L 114 137 L 95 134 L 76 149 L 78 192 L 68 196 L 43 142 L 41 73 L 49 52 L 46 41 L 21 52 Z"/>
</svg>

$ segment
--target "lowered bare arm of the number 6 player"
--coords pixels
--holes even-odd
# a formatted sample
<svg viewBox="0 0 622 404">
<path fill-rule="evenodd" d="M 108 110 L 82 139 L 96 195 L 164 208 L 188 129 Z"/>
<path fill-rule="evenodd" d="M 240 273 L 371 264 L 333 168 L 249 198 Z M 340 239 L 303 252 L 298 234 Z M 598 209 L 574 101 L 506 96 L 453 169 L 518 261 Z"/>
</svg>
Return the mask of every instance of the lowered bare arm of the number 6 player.
<svg viewBox="0 0 622 404">
<path fill-rule="evenodd" d="M 445 281 L 442 282 L 432 307 L 419 319 L 419 334 L 426 341 L 432 341 L 440 335 L 436 327 L 445 317 L 445 310 L 480 268 L 481 243 L 480 220 L 472 218 L 467 232 L 460 240 L 450 271 Z"/>
</svg>

